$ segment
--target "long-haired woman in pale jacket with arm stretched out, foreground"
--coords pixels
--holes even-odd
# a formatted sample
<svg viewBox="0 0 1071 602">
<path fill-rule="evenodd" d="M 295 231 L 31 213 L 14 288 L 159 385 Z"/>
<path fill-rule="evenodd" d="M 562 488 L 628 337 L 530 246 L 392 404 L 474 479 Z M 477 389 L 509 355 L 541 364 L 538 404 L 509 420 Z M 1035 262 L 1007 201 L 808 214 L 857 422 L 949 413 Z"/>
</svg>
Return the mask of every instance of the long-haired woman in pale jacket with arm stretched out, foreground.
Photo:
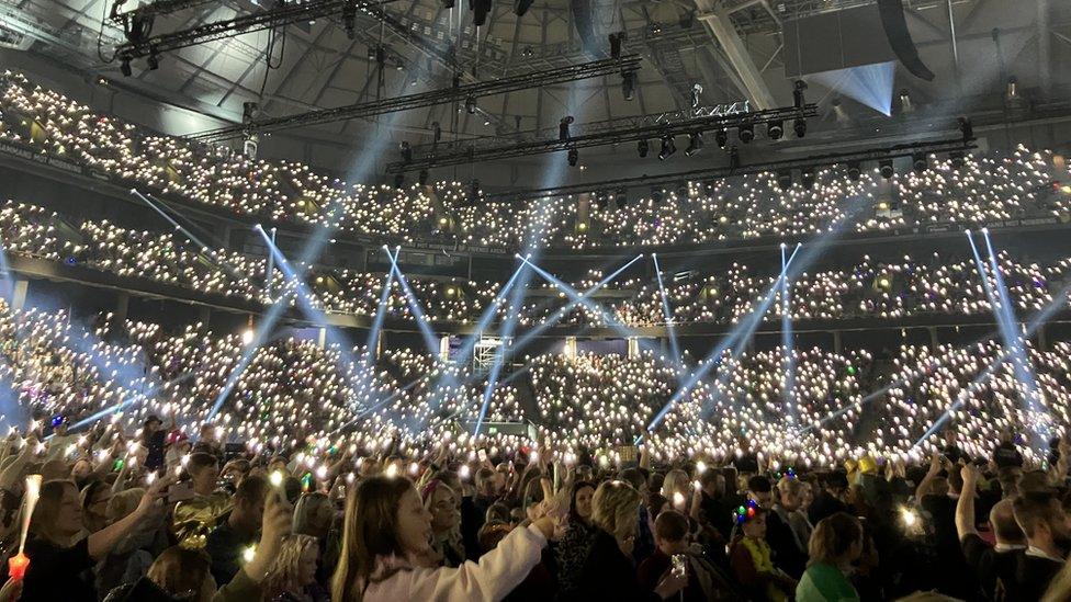
<svg viewBox="0 0 1071 602">
<path fill-rule="evenodd" d="M 509 533 L 498 546 L 458 568 L 440 568 L 431 549 L 431 513 L 413 484 L 376 476 L 346 502 L 342 555 L 331 580 L 334 602 L 497 601 L 539 564 L 550 518 Z"/>
</svg>

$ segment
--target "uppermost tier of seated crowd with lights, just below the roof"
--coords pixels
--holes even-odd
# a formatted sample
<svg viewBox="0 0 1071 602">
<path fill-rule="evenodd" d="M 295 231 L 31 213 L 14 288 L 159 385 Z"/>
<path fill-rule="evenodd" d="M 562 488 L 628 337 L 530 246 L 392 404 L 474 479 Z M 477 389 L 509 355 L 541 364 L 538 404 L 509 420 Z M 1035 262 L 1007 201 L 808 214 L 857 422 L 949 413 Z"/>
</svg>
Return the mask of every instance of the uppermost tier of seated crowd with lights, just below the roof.
<svg viewBox="0 0 1071 602">
<path fill-rule="evenodd" d="M 346 182 L 298 162 L 250 160 L 97 113 L 19 73 L 5 72 L 0 84 L 0 144 L 232 217 L 306 227 L 330 222 L 342 237 L 519 249 L 529 235 L 525 225 L 543 222 L 539 247 L 588 249 L 802 237 L 856 206 L 866 207 L 852 225 L 858 232 L 1071 217 L 1064 158 L 1025 147 L 968 157 L 961 166 L 931 157 L 928 169 L 888 180 L 870 170 L 853 181 L 834 167 L 819 170 L 813 185 L 785 190 L 776 173 L 760 173 L 632 197 L 604 191 L 583 203 L 579 196 L 493 202 L 472 183 L 397 190 Z M 537 219 L 541 212 L 553 219 Z"/>
</svg>

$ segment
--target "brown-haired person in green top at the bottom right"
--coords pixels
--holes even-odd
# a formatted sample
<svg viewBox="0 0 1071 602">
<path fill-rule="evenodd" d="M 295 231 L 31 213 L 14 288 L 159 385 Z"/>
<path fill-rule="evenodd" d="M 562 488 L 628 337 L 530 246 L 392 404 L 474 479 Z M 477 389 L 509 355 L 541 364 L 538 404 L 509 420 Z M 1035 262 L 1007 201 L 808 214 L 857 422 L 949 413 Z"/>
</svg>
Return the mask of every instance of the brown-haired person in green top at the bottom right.
<svg viewBox="0 0 1071 602">
<path fill-rule="evenodd" d="M 811 560 L 796 587 L 797 602 L 858 602 L 845 572 L 863 554 L 863 525 L 845 512 L 823 519 L 808 546 Z"/>
</svg>

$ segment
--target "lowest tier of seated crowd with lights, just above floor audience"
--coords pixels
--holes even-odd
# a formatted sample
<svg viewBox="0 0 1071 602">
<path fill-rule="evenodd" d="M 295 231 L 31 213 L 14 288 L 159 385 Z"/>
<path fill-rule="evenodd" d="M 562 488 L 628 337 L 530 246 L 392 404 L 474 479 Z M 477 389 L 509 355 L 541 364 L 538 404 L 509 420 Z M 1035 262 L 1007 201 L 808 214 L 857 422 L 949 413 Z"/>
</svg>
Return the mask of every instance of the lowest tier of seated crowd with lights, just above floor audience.
<svg viewBox="0 0 1071 602">
<path fill-rule="evenodd" d="M 145 322 L 112 323 L 106 315 L 80 325 L 64 311 L 3 305 L 0 382 L 12 391 L 2 399 L 4 419 L 21 424 L 61 413 L 76 424 L 133 428 L 156 413 L 195 432 L 243 348 L 239 337 L 199 325 L 166 332 Z M 724 456 L 743 438 L 767 457 L 830 465 L 865 453 L 918 459 L 938 443 L 926 435 L 947 414 L 965 450 L 984 455 L 1004 428 L 1055 432 L 1071 421 L 1071 344 L 1028 354 L 1042 391 L 1034 411 L 1024 409 L 1022 386 L 994 341 L 844 354 L 794 349 L 794 423 L 785 419 L 782 350 L 726 354 L 654 433 L 645 424 L 684 380 L 664 357 L 527 356 L 495 389 L 486 420 L 527 423 L 530 431 L 492 429 L 483 436 L 505 451 L 530 444 L 534 432 L 562 457 L 590 453 L 600 462 L 612 462 L 619 446 L 641 435 L 666 458 L 697 450 Z M 256 351 L 211 423 L 225 440 L 255 450 L 375 451 L 396 443 L 418 457 L 440 442 L 467 448 L 471 433 L 456 425 L 475 418 L 484 380 L 413 351 L 387 350 L 363 365 L 347 363 L 335 347 L 284 337 Z"/>
</svg>

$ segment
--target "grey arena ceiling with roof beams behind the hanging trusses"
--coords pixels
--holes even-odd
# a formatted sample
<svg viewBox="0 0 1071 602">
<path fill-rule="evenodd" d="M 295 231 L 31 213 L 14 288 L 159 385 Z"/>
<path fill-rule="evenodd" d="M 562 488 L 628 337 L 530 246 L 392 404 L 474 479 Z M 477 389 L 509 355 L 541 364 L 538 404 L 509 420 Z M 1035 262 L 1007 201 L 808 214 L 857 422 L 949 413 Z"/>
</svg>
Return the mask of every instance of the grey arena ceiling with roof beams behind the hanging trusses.
<svg viewBox="0 0 1071 602">
<path fill-rule="evenodd" d="M 158 18 L 154 33 L 260 10 L 257 1 L 202 3 Z M 685 107 L 696 83 L 702 86 L 704 104 L 756 102 L 764 95 L 776 105 L 790 104 L 783 21 L 867 3 L 872 1 L 589 0 L 596 34 L 625 31 L 625 50 L 644 57 L 633 101 L 624 100 L 620 78 L 606 77 L 481 99 L 474 115 L 440 105 L 390 121 L 381 117 L 379 125 L 388 123 L 394 136 L 415 141 L 422 141 L 433 122 L 451 124 L 443 127 L 460 136 L 508 137 L 554 127 L 565 115 L 601 121 Z M 443 49 L 456 48 L 456 64 L 466 79 L 487 80 L 590 60 L 577 34 L 578 4 L 583 2 L 537 0 L 519 18 L 515 2 L 499 0 L 478 29 L 472 25 L 466 0 L 458 0 L 453 10 L 442 8 L 440 0 L 397 0 L 384 10 L 410 35 Z M 1002 89 L 994 27 L 1002 31 L 1003 70 L 1017 77 L 1024 90 L 1068 83 L 1069 70 L 1056 68 L 1071 60 L 1071 8 L 1063 2 L 905 0 L 905 7 L 920 54 L 937 76 L 926 82 L 898 68 L 894 86 L 898 92 L 907 90 L 916 105 Z M 123 32 L 106 18 L 111 8 L 112 0 L 2 0 L 3 42 L 61 61 L 86 77 L 104 76 L 116 87 L 230 121 L 240 120 L 247 101 L 259 102 L 263 115 L 289 115 L 441 88 L 453 71 L 414 47 L 402 32 L 360 15 L 352 38 L 339 20 L 320 19 L 288 26 L 273 43 L 270 33 L 257 32 L 168 53 L 156 70 L 137 60 L 133 76 L 124 78 L 119 61 L 109 60 L 123 42 Z M 711 21 L 711 15 L 724 21 Z M 731 26 L 739 44 L 715 26 L 719 23 Z M 382 78 L 369 52 L 380 44 L 386 50 Z M 813 82 L 809 93 L 828 116 L 838 94 Z M 850 100 L 843 106 L 869 114 Z M 362 127 L 368 123 L 342 122 L 300 135 L 347 140 Z"/>
</svg>

